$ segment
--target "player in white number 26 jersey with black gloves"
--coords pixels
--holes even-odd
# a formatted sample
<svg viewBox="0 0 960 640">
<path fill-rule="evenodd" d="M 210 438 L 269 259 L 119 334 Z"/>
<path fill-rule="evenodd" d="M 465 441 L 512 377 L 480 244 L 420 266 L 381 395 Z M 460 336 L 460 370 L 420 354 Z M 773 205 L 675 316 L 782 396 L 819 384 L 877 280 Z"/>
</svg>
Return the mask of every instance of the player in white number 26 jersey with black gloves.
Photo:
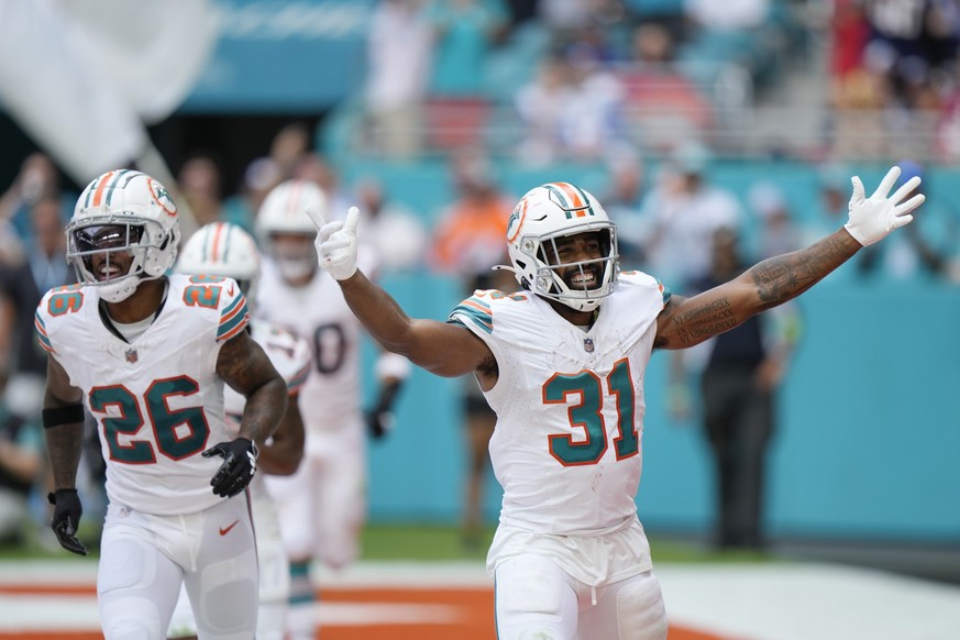
<svg viewBox="0 0 960 640">
<path fill-rule="evenodd" d="M 36 311 L 51 356 L 53 530 L 86 553 L 75 484 L 86 405 L 107 462 L 104 637 L 164 638 L 185 583 L 201 639 L 252 638 L 257 563 L 245 488 L 286 408 L 284 379 L 250 339 L 234 280 L 166 275 L 177 209 L 150 176 L 119 169 L 90 183 L 67 236 L 80 284 L 51 290 Z M 224 383 L 246 399 L 239 430 L 224 419 Z"/>
</svg>

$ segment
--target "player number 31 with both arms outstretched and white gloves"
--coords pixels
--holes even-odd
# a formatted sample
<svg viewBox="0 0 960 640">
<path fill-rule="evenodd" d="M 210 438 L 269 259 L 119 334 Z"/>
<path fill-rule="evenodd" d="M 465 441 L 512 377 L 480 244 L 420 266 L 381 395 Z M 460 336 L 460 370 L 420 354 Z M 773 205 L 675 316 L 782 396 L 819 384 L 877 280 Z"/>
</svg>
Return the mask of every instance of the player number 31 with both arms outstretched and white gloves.
<svg viewBox="0 0 960 640">
<path fill-rule="evenodd" d="M 356 267 L 356 218 L 317 217 L 320 264 L 388 350 L 444 376 L 473 372 L 497 412 L 490 459 L 504 487 L 488 554 L 500 640 L 662 640 L 666 615 L 637 518 L 643 379 L 654 349 L 684 349 L 807 290 L 913 218 L 911 179 L 869 199 L 854 178 L 846 227 L 692 298 L 618 273 L 616 228 L 569 183 L 537 187 L 506 224 L 526 289 L 476 291 L 448 323 L 408 318 Z"/>
</svg>

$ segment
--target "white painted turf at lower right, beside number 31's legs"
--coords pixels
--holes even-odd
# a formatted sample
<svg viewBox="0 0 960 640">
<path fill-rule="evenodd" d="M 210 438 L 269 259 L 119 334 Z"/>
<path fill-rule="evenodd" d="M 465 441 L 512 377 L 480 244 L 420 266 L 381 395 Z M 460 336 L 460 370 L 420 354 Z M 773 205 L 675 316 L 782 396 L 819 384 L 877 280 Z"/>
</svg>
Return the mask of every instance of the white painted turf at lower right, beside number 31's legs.
<svg viewBox="0 0 960 640">
<path fill-rule="evenodd" d="M 664 565 L 678 625 L 738 640 L 958 640 L 960 587 L 827 564 Z"/>
</svg>

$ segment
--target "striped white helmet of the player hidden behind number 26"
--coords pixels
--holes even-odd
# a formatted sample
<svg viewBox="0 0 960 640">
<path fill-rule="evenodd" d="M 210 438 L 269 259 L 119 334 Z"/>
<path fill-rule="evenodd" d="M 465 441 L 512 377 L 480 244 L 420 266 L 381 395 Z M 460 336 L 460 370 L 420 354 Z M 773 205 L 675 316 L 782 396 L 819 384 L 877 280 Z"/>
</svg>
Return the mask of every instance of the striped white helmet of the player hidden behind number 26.
<svg viewBox="0 0 960 640">
<path fill-rule="evenodd" d="M 260 251 L 253 236 L 230 222 L 211 222 L 184 245 L 175 271 L 191 276 L 233 278 L 252 307 L 260 280 Z"/>
</svg>

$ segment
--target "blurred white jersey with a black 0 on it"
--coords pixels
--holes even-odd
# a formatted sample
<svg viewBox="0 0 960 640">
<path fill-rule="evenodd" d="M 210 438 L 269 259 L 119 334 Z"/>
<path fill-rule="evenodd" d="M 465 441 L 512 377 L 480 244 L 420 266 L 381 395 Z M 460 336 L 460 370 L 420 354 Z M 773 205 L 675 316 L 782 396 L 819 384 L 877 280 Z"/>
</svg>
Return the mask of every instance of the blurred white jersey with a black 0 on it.
<svg viewBox="0 0 960 640">
<path fill-rule="evenodd" d="M 273 261 L 264 260 L 256 316 L 310 345 L 312 368 L 300 391 L 300 412 L 308 431 L 336 430 L 345 423 L 343 416 L 360 412 L 363 329 L 336 280 L 317 269 L 307 285 L 291 287 Z"/>
</svg>

